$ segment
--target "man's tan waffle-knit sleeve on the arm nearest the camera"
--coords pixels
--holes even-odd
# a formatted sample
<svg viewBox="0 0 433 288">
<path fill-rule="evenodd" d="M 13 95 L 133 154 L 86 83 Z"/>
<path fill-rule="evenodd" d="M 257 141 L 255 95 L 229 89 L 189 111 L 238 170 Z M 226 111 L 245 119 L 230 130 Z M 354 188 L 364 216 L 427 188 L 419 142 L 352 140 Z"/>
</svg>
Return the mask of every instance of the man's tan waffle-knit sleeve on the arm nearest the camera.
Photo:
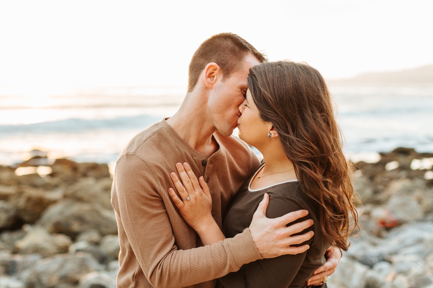
<svg viewBox="0 0 433 288">
<path fill-rule="evenodd" d="M 261 259 L 248 229 L 210 246 L 179 250 L 175 241 L 183 240 L 178 236 L 175 240 L 173 230 L 184 229 L 185 237 L 195 232 L 184 222 L 171 222 L 178 212 L 168 202 L 168 196 L 162 195 L 166 193 L 163 189 L 155 180 L 155 171 L 141 158 L 133 154 L 119 158 L 113 180 L 113 207 L 127 237 L 124 241 L 153 287 L 206 282 Z"/>
</svg>

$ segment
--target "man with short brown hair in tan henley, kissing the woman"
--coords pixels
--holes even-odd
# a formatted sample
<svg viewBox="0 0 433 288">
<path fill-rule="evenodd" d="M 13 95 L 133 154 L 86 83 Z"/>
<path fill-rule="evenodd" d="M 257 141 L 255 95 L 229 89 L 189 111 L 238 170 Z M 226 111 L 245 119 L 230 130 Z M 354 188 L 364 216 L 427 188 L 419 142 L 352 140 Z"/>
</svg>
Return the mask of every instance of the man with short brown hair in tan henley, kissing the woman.
<svg viewBox="0 0 433 288">
<path fill-rule="evenodd" d="M 302 210 L 268 219 L 263 209 L 236 237 L 203 247 L 168 195 L 174 187 L 170 172 L 177 162 L 187 162 L 206 180 L 212 215 L 222 226 L 222 211 L 259 166 L 252 150 L 231 134 L 249 68 L 262 61 L 263 55 L 237 35 L 207 39 L 191 60 L 188 91 L 178 112 L 137 134 L 120 154 L 111 199 L 120 239 L 118 288 L 213 288 L 213 279 L 243 264 L 307 249 L 290 245 L 310 239 L 311 233 L 291 235 L 309 227 L 310 220 L 286 227 L 306 215 Z M 168 69 L 168 80 L 176 73 Z"/>
</svg>

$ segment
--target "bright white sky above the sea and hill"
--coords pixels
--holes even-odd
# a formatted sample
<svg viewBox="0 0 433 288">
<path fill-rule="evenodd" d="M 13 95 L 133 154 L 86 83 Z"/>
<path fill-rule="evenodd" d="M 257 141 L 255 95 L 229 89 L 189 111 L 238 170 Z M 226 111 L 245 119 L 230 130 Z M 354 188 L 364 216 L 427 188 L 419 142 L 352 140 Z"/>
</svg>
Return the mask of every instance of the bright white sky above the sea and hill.
<svg viewBox="0 0 433 288">
<path fill-rule="evenodd" d="M 202 41 L 234 32 L 328 79 L 433 63 L 432 1 L 3 1 L 0 86 L 184 86 Z"/>
</svg>

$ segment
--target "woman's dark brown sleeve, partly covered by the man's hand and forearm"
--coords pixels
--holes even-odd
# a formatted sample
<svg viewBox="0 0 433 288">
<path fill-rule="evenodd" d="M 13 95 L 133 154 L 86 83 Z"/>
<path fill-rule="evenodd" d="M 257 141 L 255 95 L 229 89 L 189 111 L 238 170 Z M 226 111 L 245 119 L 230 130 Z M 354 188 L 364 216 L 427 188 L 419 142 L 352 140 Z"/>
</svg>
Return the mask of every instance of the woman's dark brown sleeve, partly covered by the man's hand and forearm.
<svg viewBox="0 0 433 288">
<path fill-rule="evenodd" d="M 270 198 L 266 215 L 268 218 L 276 218 L 288 212 L 305 209 L 294 200 L 273 195 Z M 310 212 L 311 213 L 311 212 Z M 307 215 L 291 224 L 310 218 Z M 301 234 L 312 230 L 312 227 L 304 230 Z M 311 244 L 312 239 L 303 244 Z M 301 245 L 303 245 L 301 244 Z M 236 272 L 219 279 L 225 288 L 287 288 L 293 281 L 297 272 L 304 262 L 307 251 L 297 255 L 283 255 L 271 259 L 257 260 L 245 264 Z"/>
</svg>

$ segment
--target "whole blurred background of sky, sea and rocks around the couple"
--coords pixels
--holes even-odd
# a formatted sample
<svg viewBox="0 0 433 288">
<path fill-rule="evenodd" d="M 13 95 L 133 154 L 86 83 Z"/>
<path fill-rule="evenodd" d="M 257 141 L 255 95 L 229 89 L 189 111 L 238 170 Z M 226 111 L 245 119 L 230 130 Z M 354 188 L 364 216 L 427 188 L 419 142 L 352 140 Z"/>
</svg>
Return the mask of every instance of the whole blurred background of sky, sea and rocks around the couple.
<svg viewBox="0 0 433 288">
<path fill-rule="evenodd" d="M 174 114 L 194 51 L 220 32 L 329 84 L 363 203 L 330 287 L 432 288 L 432 11 L 430 0 L 0 0 L 0 288 L 116 287 L 116 159 Z"/>
</svg>

